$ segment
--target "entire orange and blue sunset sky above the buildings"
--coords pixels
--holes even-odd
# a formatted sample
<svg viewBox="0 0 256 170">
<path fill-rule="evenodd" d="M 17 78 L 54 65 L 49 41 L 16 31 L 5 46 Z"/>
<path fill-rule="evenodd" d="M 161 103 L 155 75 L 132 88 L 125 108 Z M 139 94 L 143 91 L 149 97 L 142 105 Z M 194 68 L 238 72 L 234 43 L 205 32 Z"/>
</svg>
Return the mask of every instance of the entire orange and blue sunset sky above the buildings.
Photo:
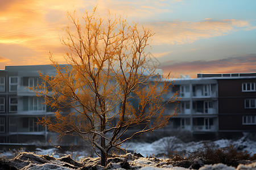
<svg viewBox="0 0 256 170">
<path fill-rule="evenodd" d="M 164 73 L 256 72 L 255 0 L 1 0 L 0 69 L 64 63 L 60 34 L 67 11 L 108 9 L 155 32 L 148 49 Z"/>
</svg>

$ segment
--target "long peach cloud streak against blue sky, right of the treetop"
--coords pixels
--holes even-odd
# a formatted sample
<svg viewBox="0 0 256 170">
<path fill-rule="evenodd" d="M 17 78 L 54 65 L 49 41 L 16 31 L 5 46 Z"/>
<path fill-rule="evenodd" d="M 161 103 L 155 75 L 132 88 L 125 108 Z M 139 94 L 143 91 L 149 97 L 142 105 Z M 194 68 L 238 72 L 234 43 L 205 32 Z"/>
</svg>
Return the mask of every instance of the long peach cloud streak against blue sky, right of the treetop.
<svg viewBox="0 0 256 170">
<path fill-rule="evenodd" d="M 205 19 L 202 22 L 174 22 L 147 23 L 148 27 L 155 31 L 155 45 L 162 44 L 187 44 L 199 39 L 224 36 L 238 30 L 255 29 L 249 22 L 243 20 L 212 20 Z"/>
</svg>

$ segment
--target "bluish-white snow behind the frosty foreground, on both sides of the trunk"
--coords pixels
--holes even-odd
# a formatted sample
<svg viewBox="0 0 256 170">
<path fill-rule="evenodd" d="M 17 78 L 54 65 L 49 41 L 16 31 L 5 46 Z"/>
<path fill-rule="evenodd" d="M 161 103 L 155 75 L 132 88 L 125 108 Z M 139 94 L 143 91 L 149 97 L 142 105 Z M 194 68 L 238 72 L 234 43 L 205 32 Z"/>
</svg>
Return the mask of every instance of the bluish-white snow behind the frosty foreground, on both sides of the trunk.
<svg viewBox="0 0 256 170">
<path fill-rule="evenodd" d="M 193 151 L 199 150 L 199 148 L 203 148 L 204 145 L 207 144 L 208 146 L 212 146 L 215 148 L 224 148 L 229 147 L 230 144 L 233 146 L 233 148 L 237 151 L 247 151 L 251 152 L 251 154 L 256 154 L 256 142 L 251 141 L 249 138 L 242 137 L 238 140 L 231 140 L 231 139 L 220 139 L 217 141 L 199 141 L 199 142 L 188 142 L 184 143 L 180 139 L 177 139 L 176 137 L 164 137 L 162 139 L 159 139 L 158 141 L 152 142 L 152 143 L 146 143 L 146 142 L 126 142 L 123 143 L 122 147 L 127 150 L 127 152 L 137 152 L 146 156 L 159 156 L 159 155 L 167 155 L 171 152 L 177 151 L 179 155 L 187 155 Z M 24 148 L 23 148 L 24 150 Z M 26 151 L 26 150 L 24 150 Z M 34 151 L 36 154 L 40 155 L 54 155 L 55 158 L 60 158 L 60 156 L 70 154 L 75 158 L 82 158 L 83 156 L 92 156 L 92 153 L 88 153 L 84 150 L 80 151 L 65 151 L 61 152 L 57 148 L 52 147 L 46 150 L 43 150 L 42 148 L 37 148 Z M 0 151 L 2 155 L 7 156 L 8 158 L 13 157 L 13 153 L 10 151 Z M 15 154 L 15 151 L 14 151 Z M 96 155 L 94 155 L 96 156 Z"/>
</svg>

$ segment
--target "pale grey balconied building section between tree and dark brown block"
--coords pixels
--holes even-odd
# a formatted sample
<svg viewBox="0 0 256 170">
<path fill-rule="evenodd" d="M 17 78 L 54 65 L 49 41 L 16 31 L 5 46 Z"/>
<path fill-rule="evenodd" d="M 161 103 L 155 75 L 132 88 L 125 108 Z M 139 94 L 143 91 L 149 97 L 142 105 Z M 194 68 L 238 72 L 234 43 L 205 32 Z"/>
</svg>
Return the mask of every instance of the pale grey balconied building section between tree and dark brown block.
<svg viewBox="0 0 256 170">
<path fill-rule="evenodd" d="M 173 79 L 174 88 L 166 96 L 178 91 L 178 114 L 170 120 L 167 131 L 187 130 L 197 135 L 217 136 L 218 131 L 218 84 L 216 79 L 189 77 Z M 167 110 L 173 111 L 170 105 Z"/>
</svg>

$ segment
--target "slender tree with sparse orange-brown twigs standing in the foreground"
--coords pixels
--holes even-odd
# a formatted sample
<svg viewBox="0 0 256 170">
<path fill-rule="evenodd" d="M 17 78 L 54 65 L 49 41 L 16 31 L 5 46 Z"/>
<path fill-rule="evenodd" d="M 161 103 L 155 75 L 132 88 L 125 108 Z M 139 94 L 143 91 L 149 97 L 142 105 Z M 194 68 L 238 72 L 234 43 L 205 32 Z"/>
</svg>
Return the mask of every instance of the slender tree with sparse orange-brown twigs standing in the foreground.
<svg viewBox="0 0 256 170">
<path fill-rule="evenodd" d="M 68 19 L 71 26 L 62 40 L 68 65 L 60 66 L 50 53 L 56 75 L 40 74 L 44 81 L 36 90 L 45 104 L 57 108 L 55 120 L 43 117 L 39 123 L 60 137 L 79 135 L 89 141 L 106 166 L 110 148 L 168 124 L 176 113 L 166 113 L 165 106 L 176 101 L 176 94 L 164 101 L 172 85 L 147 66 L 144 49 L 153 35 L 149 29 L 129 25 L 121 16 L 102 19 L 95 10 L 80 20 L 76 12 L 68 13 Z M 138 101 L 137 107 L 131 99 Z M 142 128 L 121 138 L 137 125 Z"/>
</svg>

